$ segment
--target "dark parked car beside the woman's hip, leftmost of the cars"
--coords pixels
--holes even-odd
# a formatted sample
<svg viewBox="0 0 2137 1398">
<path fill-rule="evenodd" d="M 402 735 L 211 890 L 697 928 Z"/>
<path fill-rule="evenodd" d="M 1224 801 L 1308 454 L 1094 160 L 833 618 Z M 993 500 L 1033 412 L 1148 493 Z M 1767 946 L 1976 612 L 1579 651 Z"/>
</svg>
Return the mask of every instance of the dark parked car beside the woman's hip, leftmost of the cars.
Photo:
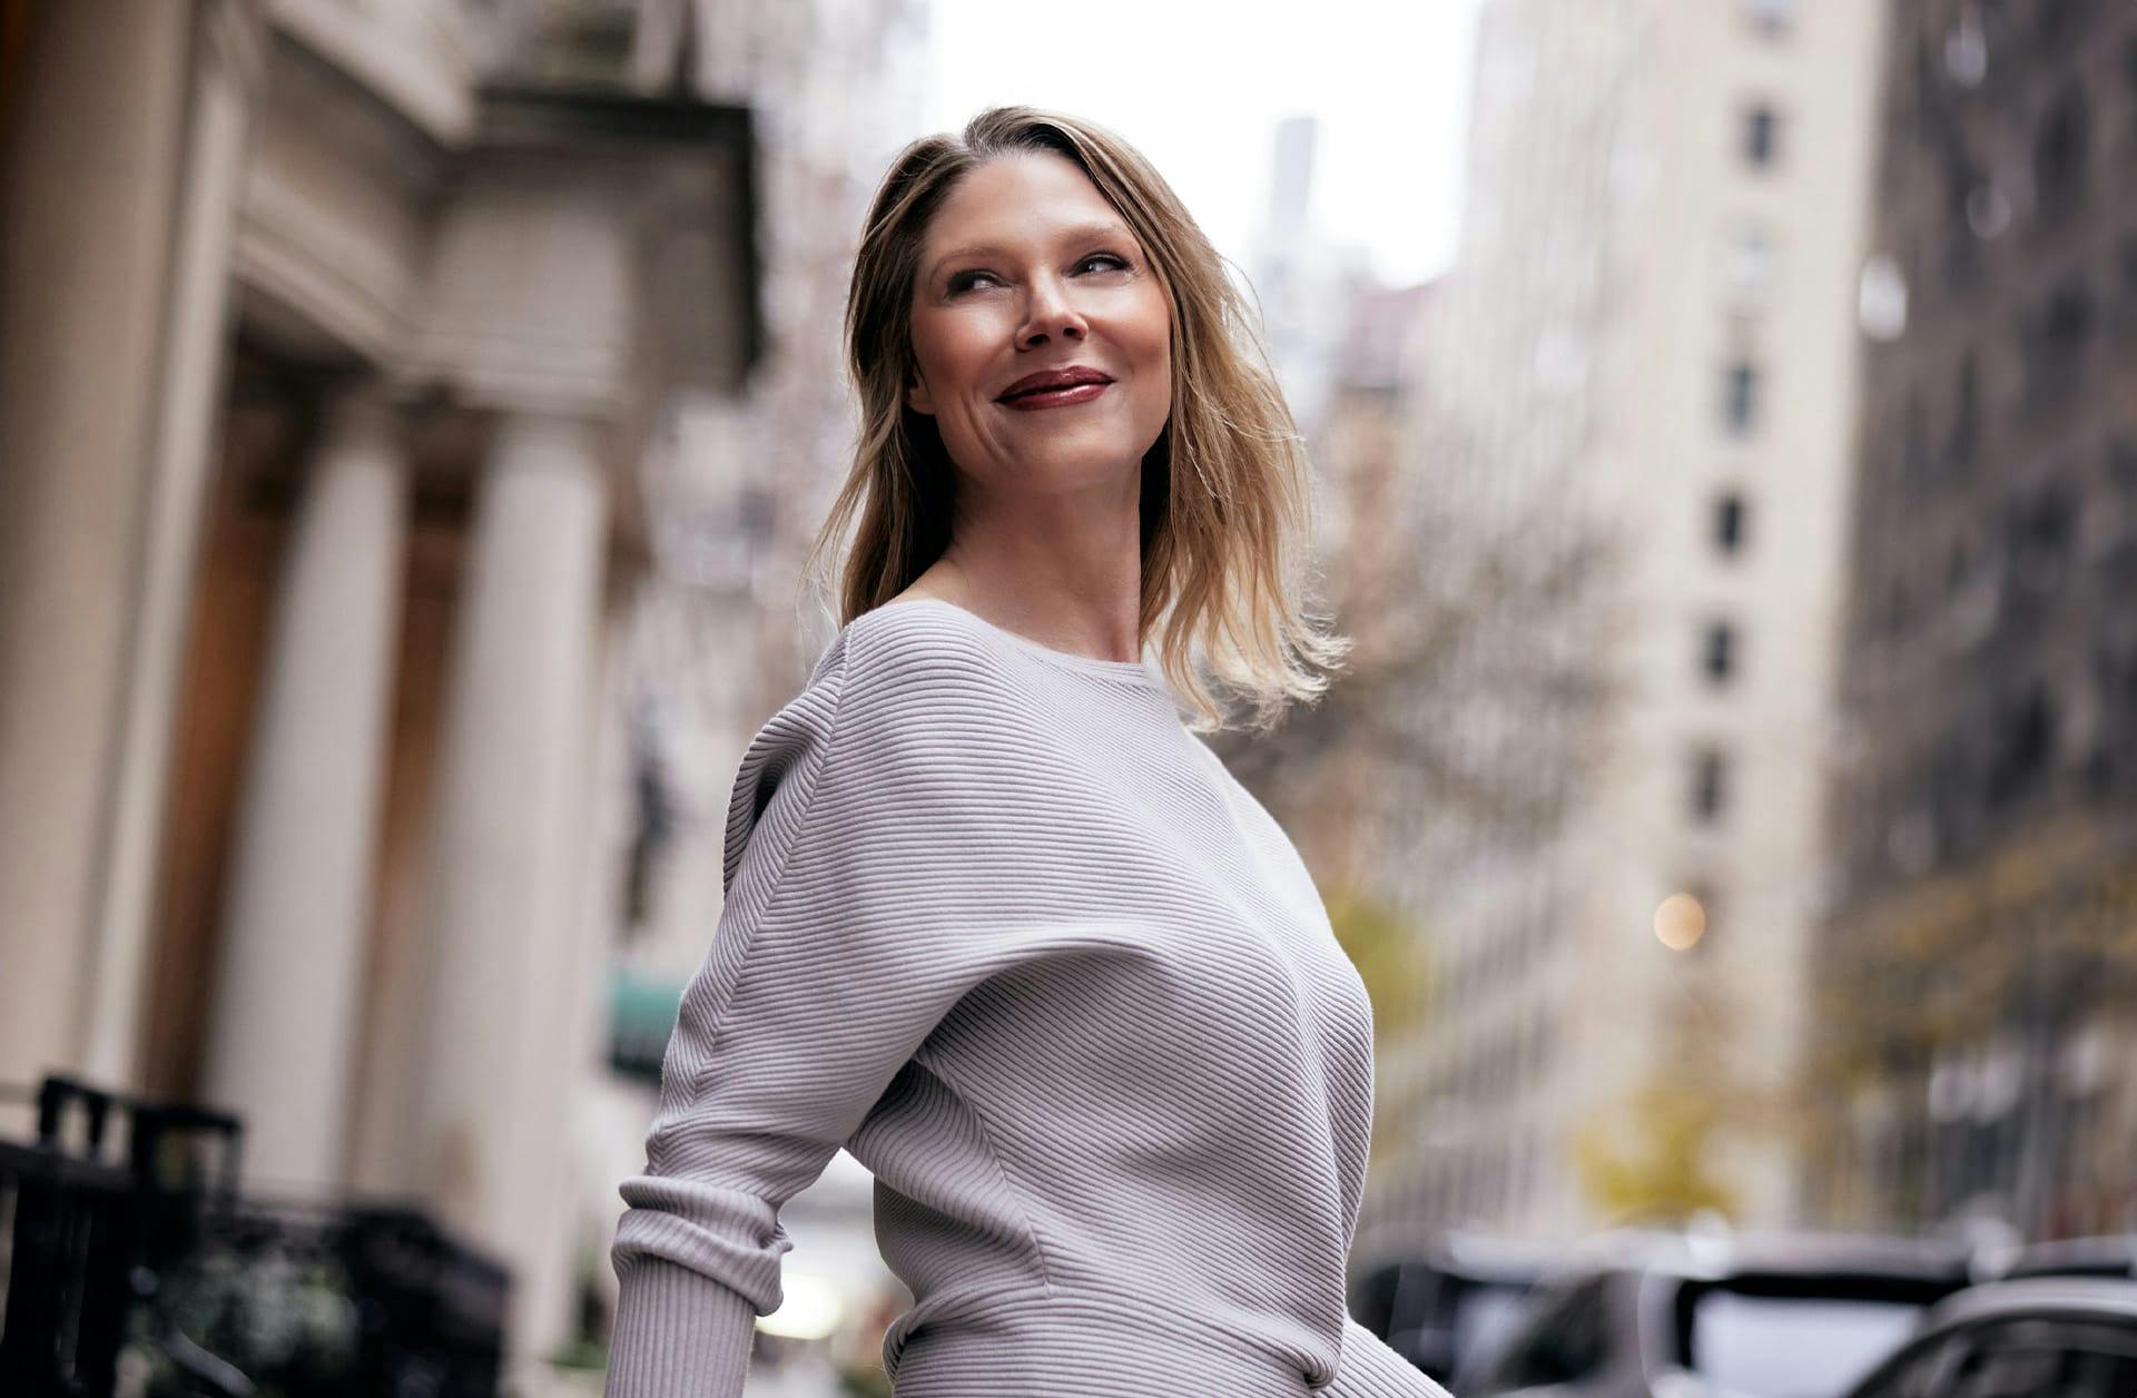
<svg viewBox="0 0 2137 1398">
<path fill-rule="evenodd" d="M 1359 1272 L 1351 1315 L 1398 1355 L 1449 1383 L 1513 1332 L 1556 1253 L 1500 1238 L 1449 1236 Z"/>
</svg>

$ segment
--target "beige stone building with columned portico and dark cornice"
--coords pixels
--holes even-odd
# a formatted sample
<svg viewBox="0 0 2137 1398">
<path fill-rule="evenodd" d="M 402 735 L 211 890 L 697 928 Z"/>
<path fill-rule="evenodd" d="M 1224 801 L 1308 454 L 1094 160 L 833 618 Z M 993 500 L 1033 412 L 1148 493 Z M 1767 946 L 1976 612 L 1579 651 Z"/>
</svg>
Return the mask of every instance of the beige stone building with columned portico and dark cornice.
<svg viewBox="0 0 2137 1398">
<path fill-rule="evenodd" d="M 605 1270 L 568 1206 L 643 464 L 763 340 L 750 111 L 692 94 L 720 36 L 0 17 L 0 1079 L 233 1107 L 256 1193 L 419 1199 L 547 1353 Z"/>
</svg>

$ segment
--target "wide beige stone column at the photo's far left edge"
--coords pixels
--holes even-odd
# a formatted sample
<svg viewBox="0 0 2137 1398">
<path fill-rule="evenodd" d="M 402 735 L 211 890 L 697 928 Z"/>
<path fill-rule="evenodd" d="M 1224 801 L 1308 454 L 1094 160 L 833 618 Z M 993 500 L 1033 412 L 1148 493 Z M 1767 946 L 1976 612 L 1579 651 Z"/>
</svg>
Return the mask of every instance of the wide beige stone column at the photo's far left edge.
<svg viewBox="0 0 2137 1398">
<path fill-rule="evenodd" d="M 0 1079 L 83 1056 L 192 15 L 38 6 L 0 152 Z"/>
</svg>

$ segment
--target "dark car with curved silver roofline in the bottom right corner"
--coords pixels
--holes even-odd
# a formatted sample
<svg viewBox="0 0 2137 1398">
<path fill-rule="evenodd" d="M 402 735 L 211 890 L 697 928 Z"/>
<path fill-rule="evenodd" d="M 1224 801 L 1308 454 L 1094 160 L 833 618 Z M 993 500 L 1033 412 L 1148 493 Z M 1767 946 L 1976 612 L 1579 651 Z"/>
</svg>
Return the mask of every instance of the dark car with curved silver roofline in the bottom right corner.
<svg viewBox="0 0 2137 1398">
<path fill-rule="evenodd" d="M 1849 1398 L 2131 1398 L 2137 1280 L 2034 1276 L 1936 1306 Z"/>
</svg>

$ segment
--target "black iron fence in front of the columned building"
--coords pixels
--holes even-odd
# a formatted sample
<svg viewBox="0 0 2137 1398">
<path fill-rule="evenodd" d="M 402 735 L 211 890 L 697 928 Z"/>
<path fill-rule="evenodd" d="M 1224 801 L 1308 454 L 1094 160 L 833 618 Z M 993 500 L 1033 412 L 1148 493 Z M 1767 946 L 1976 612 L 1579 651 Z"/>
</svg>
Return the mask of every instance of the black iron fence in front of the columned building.
<svg viewBox="0 0 2137 1398">
<path fill-rule="evenodd" d="M 412 1208 L 244 1199 L 239 1144 L 224 1114 L 43 1084 L 36 1141 L 0 1141 L 0 1394 L 498 1392 L 498 1263 Z"/>
</svg>

